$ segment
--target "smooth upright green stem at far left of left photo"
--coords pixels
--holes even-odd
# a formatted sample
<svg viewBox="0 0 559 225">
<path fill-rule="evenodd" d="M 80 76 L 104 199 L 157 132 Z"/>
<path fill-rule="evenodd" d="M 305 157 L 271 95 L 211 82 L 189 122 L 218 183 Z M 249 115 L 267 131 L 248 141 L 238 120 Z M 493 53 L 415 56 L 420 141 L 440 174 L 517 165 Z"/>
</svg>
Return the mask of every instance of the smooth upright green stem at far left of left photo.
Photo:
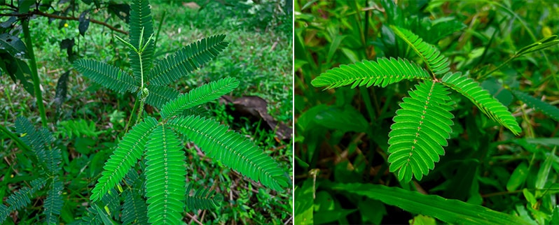
<svg viewBox="0 0 559 225">
<path fill-rule="evenodd" d="M 31 64 L 31 75 L 33 78 L 33 87 L 35 97 L 37 99 L 37 107 L 39 107 L 39 114 L 41 115 L 41 124 L 47 126 L 47 119 L 45 113 L 45 106 L 43 105 L 43 93 L 39 87 L 39 72 L 37 71 L 37 63 L 35 61 L 35 53 L 33 52 L 33 42 L 31 34 L 29 34 L 29 19 L 22 20 L 23 35 L 25 36 L 25 45 L 27 45 L 27 53 L 29 54 L 29 64 Z"/>
</svg>

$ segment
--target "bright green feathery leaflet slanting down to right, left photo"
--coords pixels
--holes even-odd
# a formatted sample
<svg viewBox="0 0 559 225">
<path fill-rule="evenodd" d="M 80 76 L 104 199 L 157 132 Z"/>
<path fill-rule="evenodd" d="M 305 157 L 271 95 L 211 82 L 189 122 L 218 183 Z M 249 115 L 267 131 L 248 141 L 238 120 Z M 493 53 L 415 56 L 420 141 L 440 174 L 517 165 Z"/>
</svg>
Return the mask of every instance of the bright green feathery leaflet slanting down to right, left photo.
<svg viewBox="0 0 559 225">
<path fill-rule="evenodd" d="M 276 191 L 289 185 L 289 178 L 277 163 L 244 136 L 228 126 L 202 117 L 175 117 L 167 122 L 206 152 L 252 180 Z"/>
</svg>

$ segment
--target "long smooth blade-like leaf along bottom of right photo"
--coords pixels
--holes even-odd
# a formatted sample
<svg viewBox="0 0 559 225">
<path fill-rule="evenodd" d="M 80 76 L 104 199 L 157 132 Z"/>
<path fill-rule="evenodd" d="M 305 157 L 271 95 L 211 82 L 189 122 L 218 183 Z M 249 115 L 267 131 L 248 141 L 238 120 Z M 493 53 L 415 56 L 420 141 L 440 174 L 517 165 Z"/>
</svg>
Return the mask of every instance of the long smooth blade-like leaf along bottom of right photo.
<svg viewBox="0 0 559 225">
<path fill-rule="evenodd" d="M 528 224 L 523 219 L 502 212 L 436 195 L 420 194 L 397 187 L 378 184 L 329 184 L 338 191 L 346 191 L 395 205 L 414 214 L 427 215 L 449 224 Z"/>
</svg>

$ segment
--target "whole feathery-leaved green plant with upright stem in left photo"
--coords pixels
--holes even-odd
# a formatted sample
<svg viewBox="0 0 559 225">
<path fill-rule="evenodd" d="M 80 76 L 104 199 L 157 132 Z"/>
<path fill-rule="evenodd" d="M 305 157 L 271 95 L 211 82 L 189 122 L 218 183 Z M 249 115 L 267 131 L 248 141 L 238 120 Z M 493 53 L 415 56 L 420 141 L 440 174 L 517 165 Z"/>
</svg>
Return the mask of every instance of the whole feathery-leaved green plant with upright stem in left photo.
<svg viewBox="0 0 559 225">
<path fill-rule="evenodd" d="M 217 201 L 221 201 L 221 196 L 212 197 L 213 193 L 204 196 L 207 191 L 186 196 L 186 157 L 182 150 L 183 139 L 177 133 L 200 146 L 208 157 L 221 161 L 252 180 L 277 191 L 288 187 L 289 177 L 282 168 L 244 136 L 205 117 L 182 117 L 188 112 L 200 112 L 197 106 L 231 92 L 239 85 L 238 80 L 223 78 L 180 95 L 177 90 L 164 86 L 216 57 L 228 45 L 224 41 L 225 35 L 187 45 L 152 68 L 153 27 L 149 4 L 137 0 L 132 3 L 131 10 L 130 43 L 119 40 L 132 49 L 130 65 L 133 75 L 93 60 L 81 59 L 74 63 L 78 71 L 100 85 L 118 92 L 135 92 L 139 103 L 139 123 L 123 136 L 106 161 L 90 199 L 103 203 L 109 215 L 121 215 L 115 188 L 122 189 L 118 185 L 125 179 L 130 188 L 121 191 L 125 195 L 123 213 L 127 214 L 122 219 L 125 223 L 139 224 L 145 224 L 146 217 L 152 224 L 180 224 L 186 203 L 189 208 L 220 205 Z M 160 109 L 160 121 L 153 117 L 145 117 L 142 121 L 144 102 Z M 134 175 L 135 165 L 142 157 L 146 168 L 141 177 L 145 180 Z M 137 184 L 137 180 L 142 180 L 144 186 Z M 146 202 L 142 196 L 146 197 Z M 93 204 L 91 217 L 84 217 L 84 221 L 112 223 L 98 206 Z"/>
</svg>

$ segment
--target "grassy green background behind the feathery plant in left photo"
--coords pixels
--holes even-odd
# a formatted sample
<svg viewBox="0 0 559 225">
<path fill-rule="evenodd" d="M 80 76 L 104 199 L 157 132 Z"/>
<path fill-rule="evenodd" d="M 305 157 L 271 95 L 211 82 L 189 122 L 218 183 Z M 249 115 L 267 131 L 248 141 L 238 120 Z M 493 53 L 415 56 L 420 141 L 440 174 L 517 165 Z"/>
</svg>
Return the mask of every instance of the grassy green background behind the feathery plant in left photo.
<svg viewBox="0 0 559 225">
<path fill-rule="evenodd" d="M 85 2 L 85 3 L 84 3 Z M 43 3 L 46 3 L 44 1 Z M 43 13 L 80 18 L 87 15 L 90 20 L 106 22 L 114 29 L 125 30 L 124 2 L 103 1 L 48 1 L 51 8 L 34 8 Z M 100 6 L 96 6 L 100 3 Z M 275 119 L 291 123 L 292 74 L 291 74 L 291 14 L 285 10 L 285 2 L 259 1 L 195 1 L 186 5 L 181 1 L 152 1 L 154 28 L 159 31 L 157 58 L 168 55 L 178 48 L 203 37 L 227 34 L 229 47 L 225 52 L 188 79 L 174 84 L 175 89 L 186 92 L 209 80 L 218 80 L 223 74 L 242 80 L 233 96 L 254 95 L 268 101 L 268 111 Z M 9 4 L 9 2 L 7 3 Z M 17 4 L 16 4 L 17 5 Z M 97 7 L 100 7 L 97 9 Z M 4 5 L 2 8 L 5 8 Z M 288 7 L 291 8 L 291 7 Z M 65 10 L 65 11 L 64 11 Z M 66 12 L 58 13 L 60 11 Z M 273 13 L 266 13 L 273 12 Z M 3 11 L 2 13 L 6 13 Z M 258 15 L 258 16 L 255 16 Z M 262 16 L 260 16 L 262 15 Z M 258 18 L 255 20 L 254 18 Z M 6 22 L 9 17 L 1 17 Z M 39 85 L 44 96 L 48 118 L 48 130 L 55 138 L 53 146 L 62 153 L 62 183 L 60 191 L 64 204 L 58 217 L 60 222 L 69 223 L 84 217 L 88 211 L 88 198 L 92 184 L 102 171 L 115 140 L 119 139 L 133 106 L 133 95 L 118 94 L 85 80 L 76 71 L 71 71 L 71 61 L 79 57 L 98 59 L 120 68 L 127 68 L 129 52 L 114 36 L 120 34 L 109 27 L 89 23 L 85 19 L 61 20 L 41 15 L 29 22 L 37 68 Z M 156 27 L 157 26 L 157 27 Z M 18 23 L 3 31 L 21 35 Z M 124 51 L 123 51 L 124 50 Z M 11 129 L 19 115 L 29 118 L 38 125 L 37 104 L 34 98 L 23 91 L 20 83 L 0 72 L 0 117 L 1 126 Z M 66 86 L 64 89 L 62 87 Z M 64 89 L 65 93 L 62 93 Z M 259 128 L 261 122 L 246 119 L 233 122 L 226 108 L 212 104 L 210 112 L 223 123 L 249 136 L 259 147 L 274 157 L 285 168 L 291 168 L 291 143 L 279 140 L 275 133 Z M 153 112 L 153 108 L 146 108 Z M 24 157 L 17 143 L 0 132 L 0 199 L 22 187 L 37 175 L 32 161 Z M 291 217 L 291 191 L 277 193 L 249 182 L 238 173 L 217 166 L 203 157 L 195 146 L 188 146 L 192 172 L 189 179 L 195 180 L 193 189 L 213 184 L 212 188 L 223 195 L 226 202 L 219 210 L 198 210 L 189 214 L 188 222 L 233 224 L 284 223 Z M 195 165 L 195 166 L 194 166 Z M 128 177 L 130 178 L 130 177 Z M 132 178 L 130 178 L 132 179 Z M 29 207 L 19 210 L 7 222 L 34 224 L 43 219 L 38 212 L 45 201 L 41 191 L 32 198 Z M 90 210 L 96 210 L 91 208 Z M 97 209 L 102 210 L 102 209 Z"/>
</svg>

